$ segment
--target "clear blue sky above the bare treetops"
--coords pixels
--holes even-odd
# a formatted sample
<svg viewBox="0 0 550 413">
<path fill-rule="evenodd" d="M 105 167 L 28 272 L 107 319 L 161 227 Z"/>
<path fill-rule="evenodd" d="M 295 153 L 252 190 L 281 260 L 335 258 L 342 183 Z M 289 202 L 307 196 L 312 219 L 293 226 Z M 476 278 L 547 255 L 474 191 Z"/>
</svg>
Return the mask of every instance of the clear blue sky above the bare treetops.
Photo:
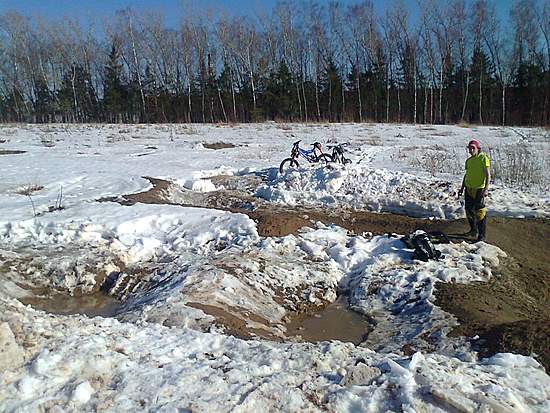
<svg viewBox="0 0 550 413">
<path fill-rule="evenodd" d="M 445 1 L 445 0 L 440 0 Z M 513 0 L 493 0 L 501 17 L 508 16 Z M 340 0 L 342 4 L 357 3 L 357 0 Z M 403 0 L 413 14 L 418 12 L 416 0 Z M 255 16 L 257 12 L 269 12 L 277 0 L 0 0 L 0 13 L 15 10 L 30 17 L 42 16 L 48 20 L 61 19 L 64 16 L 78 17 L 81 23 L 112 17 L 116 10 L 131 7 L 135 11 L 154 10 L 163 12 L 168 26 L 176 27 L 183 15 L 183 5 L 193 5 L 200 10 L 211 9 L 215 12 L 225 11 L 233 15 Z M 290 3 L 293 3 L 290 0 Z M 318 0 L 328 3 L 328 0 Z M 381 15 L 392 1 L 374 0 L 377 13 Z"/>
</svg>

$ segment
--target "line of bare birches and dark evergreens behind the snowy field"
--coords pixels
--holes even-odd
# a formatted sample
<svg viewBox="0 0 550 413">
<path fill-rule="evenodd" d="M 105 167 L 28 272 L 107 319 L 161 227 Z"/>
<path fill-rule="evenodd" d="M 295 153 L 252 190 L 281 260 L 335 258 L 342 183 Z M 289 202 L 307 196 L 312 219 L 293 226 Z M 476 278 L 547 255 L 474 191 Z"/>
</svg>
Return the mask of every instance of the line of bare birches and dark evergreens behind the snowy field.
<svg viewBox="0 0 550 413">
<path fill-rule="evenodd" d="M 550 0 L 119 10 L 100 28 L 0 15 L 2 122 L 550 125 Z"/>
</svg>

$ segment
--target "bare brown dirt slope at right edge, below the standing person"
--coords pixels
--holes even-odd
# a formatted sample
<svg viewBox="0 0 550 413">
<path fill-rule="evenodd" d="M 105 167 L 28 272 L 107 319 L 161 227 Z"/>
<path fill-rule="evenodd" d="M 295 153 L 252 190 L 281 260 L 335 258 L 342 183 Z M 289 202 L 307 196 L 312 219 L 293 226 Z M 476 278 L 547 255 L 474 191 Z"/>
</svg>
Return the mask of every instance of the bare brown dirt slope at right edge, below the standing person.
<svg viewBox="0 0 550 413">
<path fill-rule="evenodd" d="M 454 230 L 456 223 L 438 224 Z M 439 284 L 437 305 L 457 316 L 455 334 L 480 336 L 480 355 L 533 355 L 550 371 L 550 221 L 493 218 L 488 241 L 509 258 L 486 283 Z"/>
</svg>

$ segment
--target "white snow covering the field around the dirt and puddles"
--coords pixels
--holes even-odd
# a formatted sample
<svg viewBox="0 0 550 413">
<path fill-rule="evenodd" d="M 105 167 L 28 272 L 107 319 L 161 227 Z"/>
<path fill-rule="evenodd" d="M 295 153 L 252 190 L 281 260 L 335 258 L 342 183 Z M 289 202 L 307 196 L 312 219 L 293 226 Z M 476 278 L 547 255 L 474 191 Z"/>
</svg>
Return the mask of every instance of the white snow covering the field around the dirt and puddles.
<svg viewBox="0 0 550 413">
<path fill-rule="evenodd" d="M 242 214 L 99 202 L 150 188 L 145 176 L 197 192 L 215 190 L 217 175 L 254 175 L 255 195 L 277 204 L 456 218 L 472 138 L 528 148 L 540 165 L 531 189 L 495 182 L 490 213 L 548 217 L 541 129 L 0 126 L 0 411 L 550 411 L 550 377 L 534 359 L 479 360 L 447 337 L 456 320 L 433 304 L 437 282 L 490 278 L 497 247 L 445 245 L 444 259 L 424 263 L 397 238 L 336 226 L 266 238 Z M 349 142 L 353 163 L 278 174 L 300 139 Z M 116 318 L 18 300 L 91 293 L 113 274 L 127 278 L 115 280 L 125 288 Z M 376 320 L 366 343 L 280 342 L 292 311 L 338 290 Z M 205 306 L 239 318 L 252 339 L 225 333 Z"/>
</svg>

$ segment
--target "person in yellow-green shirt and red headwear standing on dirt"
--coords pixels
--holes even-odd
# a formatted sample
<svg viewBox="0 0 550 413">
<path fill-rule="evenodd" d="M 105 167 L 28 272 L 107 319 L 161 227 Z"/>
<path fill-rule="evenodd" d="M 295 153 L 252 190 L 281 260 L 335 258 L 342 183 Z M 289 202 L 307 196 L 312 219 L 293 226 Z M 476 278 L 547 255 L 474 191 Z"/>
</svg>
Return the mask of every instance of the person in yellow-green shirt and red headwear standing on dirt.
<svg viewBox="0 0 550 413">
<path fill-rule="evenodd" d="M 477 236 L 477 241 L 484 241 L 487 227 L 485 196 L 491 180 L 490 161 L 489 157 L 481 152 L 481 145 L 475 139 L 468 143 L 468 152 L 470 157 L 466 159 L 466 173 L 458 191 L 459 197 L 464 192 L 466 218 L 470 224 L 470 231 L 465 235 Z"/>
</svg>

